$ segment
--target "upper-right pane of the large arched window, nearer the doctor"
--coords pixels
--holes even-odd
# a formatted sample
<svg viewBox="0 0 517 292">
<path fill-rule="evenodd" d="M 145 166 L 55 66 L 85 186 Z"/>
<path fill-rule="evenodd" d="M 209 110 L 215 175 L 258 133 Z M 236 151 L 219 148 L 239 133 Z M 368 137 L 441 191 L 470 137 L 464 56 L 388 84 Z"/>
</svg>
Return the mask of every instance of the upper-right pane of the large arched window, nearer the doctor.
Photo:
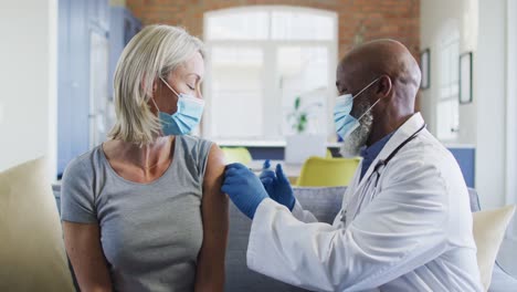
<svg viewBox="0 0 517 292">
<path fill-rule="evenodd" d="M 272 12 L 273 40 L 333 40 L 333 18 L 299 11 Z"/>
</svg>

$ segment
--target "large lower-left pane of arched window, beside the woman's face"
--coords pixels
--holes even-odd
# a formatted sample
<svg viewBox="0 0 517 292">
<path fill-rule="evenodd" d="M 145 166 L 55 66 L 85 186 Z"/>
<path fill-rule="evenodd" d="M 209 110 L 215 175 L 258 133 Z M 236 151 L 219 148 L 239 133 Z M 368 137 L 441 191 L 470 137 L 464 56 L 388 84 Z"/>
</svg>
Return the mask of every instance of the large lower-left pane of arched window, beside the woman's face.
<svg viewBox="0 0 517 292">
<path fill-rule="evenodd" d="M 213 137 L 263 136 L 262 74 L 261 49 L 213 49 L 210 91 Z"/>
</svg>

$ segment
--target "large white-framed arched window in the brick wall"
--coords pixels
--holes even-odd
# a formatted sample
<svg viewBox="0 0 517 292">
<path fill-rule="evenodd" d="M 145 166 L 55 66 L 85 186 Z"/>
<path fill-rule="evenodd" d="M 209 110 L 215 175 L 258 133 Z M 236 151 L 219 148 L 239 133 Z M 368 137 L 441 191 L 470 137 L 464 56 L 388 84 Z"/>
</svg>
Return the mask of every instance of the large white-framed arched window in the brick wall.
<svg viewBox="0 0 517 292">
<path fill-rule="evenodd" d="M 250 7 L 204 15 L 207 111 L 215 140 L 283 140 L 297 96 L 309 133 L 334 133 L 337 15 L 316 9 Z"/>
</svg>

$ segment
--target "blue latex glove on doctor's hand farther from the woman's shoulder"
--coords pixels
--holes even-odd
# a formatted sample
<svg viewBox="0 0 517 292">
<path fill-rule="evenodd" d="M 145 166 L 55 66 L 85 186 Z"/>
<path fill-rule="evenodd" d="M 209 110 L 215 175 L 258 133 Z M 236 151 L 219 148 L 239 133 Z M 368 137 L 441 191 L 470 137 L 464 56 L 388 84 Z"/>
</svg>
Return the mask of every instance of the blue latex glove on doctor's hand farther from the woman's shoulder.
<svg viewBox="0 0 517 292">
<path fill-rule="evenodd" d="M 282 165 L 276 165 L 276 171 L 270 169 L 270 160 L 265 160 L 264 167 L 261 173 L 261 181 L 270 197 L 278 204 L 284 205 L 291 211 L 296 204 L 293 195 L 293 188 L 289 180 L 282 169 Z"/>
</svg>

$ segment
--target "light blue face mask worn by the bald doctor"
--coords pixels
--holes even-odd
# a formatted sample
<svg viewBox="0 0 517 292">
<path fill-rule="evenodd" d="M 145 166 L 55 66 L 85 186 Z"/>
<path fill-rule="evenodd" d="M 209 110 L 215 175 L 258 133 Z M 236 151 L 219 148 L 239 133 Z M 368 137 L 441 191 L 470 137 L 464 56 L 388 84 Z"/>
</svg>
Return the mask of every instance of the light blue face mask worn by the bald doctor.
<svg viewBox="0 0 517 292">
<path fill-rule="evenodd" d="M 370 84 L 368 84 L 365 88 L 362 88 L 358 94 L 352 96 L 350 93 L 344 94 L 336 98 L 336 105 L 334 106 L 334 124 L 336 125 L 336 133 L 345 139 L 348 137 L 354 131 L 356 131 L 360 123 L 359 121 L 376 106 L 376 104 L 380 101 L 378 100 L 368 111 L 366 111 L 359 118 L 355 118 L 350 115 L 350 112 L 354 106 L 354 100 L 368 90 L 371 85 L 378 82 L 379 79 L 376 79 Z"/>
</svg>

